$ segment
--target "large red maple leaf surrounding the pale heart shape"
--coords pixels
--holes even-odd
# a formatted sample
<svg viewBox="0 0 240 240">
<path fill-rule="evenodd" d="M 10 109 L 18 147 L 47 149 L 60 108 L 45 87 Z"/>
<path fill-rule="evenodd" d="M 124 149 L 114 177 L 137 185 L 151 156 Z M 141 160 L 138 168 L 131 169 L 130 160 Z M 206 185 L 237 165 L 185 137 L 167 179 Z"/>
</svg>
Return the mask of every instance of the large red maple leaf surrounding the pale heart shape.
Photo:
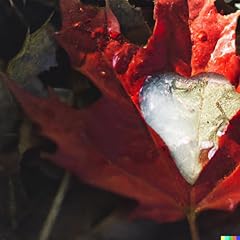
<svg viewBox="0 0 240 240">
<path fill-rule="evenodd" d="M 233 42 L 239 13 L 222 16 L 214 1 L 158 0 L 153 34 L 140 47 L 124 40 L 108 8 L 62 0 L 61 9 L 62 30 L 56 37 L 72 66 L 88 76 L 103 97 L 76 110 L 53 94 L 37 98 L 8 81 L 26 114 L 56 142 L 52 161 L 86 183 L 137 200 L 133 217 L 166 222 L 183 218 L 190 209 L 236 207 L 240 115 L 230 121 L 219 150 L 190 186 L 167 146 L 144 123 L 137 99 L 146 76 L 166 71 L 184 76 L 216 72 L 237 86 L 239 57 Z"/>
</svg>

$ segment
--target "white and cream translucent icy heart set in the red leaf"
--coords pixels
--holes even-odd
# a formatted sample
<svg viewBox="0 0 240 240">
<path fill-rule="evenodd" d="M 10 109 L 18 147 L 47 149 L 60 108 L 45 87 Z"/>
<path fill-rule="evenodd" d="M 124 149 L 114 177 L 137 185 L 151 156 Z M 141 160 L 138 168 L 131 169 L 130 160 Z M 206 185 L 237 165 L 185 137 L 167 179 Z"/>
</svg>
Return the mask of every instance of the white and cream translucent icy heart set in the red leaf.
<svg viewBox="0 0 240 240">
<path fill-rule="evenodd" d="M 219 132 L 240 109 L 240 94 L 218 74 L 185 79 L 166 73 L 147 78 L 140 108 L 167 144 L 183 177 L 194 184 L 203 168 L 202 150 L 209 151 L 209 159 L 214 156 Z"/>
</svg>

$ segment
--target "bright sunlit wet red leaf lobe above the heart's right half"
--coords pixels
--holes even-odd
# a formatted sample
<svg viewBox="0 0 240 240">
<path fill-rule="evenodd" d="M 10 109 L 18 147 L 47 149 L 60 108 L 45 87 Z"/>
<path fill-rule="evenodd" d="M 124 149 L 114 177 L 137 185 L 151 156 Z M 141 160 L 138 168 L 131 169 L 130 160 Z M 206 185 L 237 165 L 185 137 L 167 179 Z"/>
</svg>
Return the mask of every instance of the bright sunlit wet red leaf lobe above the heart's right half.
<svg viewBox="0 0 240 240">
<path fill-rule="evenodd" d="M 240 62 L 236 56 L 235 40 L 239 12 L 224 16 L 217 12 L 215 1 L 205 2 L 189 1 L 192 74 L 217 72 L 237 86 Z"/>
</svg>

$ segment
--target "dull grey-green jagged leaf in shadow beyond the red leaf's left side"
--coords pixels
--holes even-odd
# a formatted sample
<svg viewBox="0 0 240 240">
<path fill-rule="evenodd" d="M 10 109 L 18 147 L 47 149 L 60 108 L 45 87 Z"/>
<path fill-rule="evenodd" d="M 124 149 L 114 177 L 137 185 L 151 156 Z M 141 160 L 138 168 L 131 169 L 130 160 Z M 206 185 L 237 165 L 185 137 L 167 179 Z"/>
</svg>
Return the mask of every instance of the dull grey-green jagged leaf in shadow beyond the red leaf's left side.
<svg viewBox="0 0 240 240">
<path fill-rule="evenodd" d="M 38 95 L 46 95 L 38 75 L 57 66 L 53 33 L 53 27 L 48 21 L 36 32 L 28 32 L 21 51 L 9 62 L 7 68 L 11 79 Z"/>
</svg>

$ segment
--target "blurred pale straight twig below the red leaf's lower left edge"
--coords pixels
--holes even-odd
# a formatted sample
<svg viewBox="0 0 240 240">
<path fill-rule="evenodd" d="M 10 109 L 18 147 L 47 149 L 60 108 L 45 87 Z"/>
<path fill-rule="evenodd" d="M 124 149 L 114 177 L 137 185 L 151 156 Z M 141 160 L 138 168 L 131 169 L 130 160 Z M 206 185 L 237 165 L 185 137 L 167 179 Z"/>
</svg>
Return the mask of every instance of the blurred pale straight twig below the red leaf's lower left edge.
<svg viewBox="0 0 240 240">
<path fill-rule="evenodd" d="M 52 207 L 51 207 L 51 209 L 48 213 L 48 216 L 43 224 L 43 228 L 39 235 L 39 240 L 48 240 L 49 239 L 49 236 L 50 236 L 52 229 L 54 227 L 54 224 L 56 222 L 56 218 L 60 212 L 62 202 L 63 202 L 66 192 L 68 190 L 69 182 L 70 182 L 70 174 L 68 172 L 66 172 L 65 175 L 63 176 L 63 179 L 61 181 L 61 184 L 59 186 L 57 194 L 53 200 Z"/>
</svg>

